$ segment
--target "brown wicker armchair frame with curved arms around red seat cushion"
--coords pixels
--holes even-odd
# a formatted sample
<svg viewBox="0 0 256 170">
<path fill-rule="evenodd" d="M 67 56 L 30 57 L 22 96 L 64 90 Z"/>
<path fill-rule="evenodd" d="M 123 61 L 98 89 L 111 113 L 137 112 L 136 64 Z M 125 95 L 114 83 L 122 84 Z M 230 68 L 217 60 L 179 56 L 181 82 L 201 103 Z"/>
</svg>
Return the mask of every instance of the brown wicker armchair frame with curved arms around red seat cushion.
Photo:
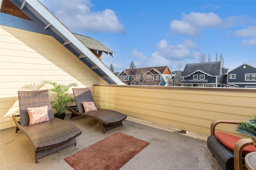
<svg viewBox="0 0 256 170">
<path fill-rule="evenodd" d="M 214 135 L 215 127 L 219 123 L 238 124 L 237 120 L 215 120 L 211 124 L 211 135 L 207 139 L 207 147 L 212 152 L 212 156 L 216 158 L 223 170 L 242 170 L 245 167 L 242 154 L 244 147 L 252 145 L 252 139 L 240 139 L 234 145 L 234 151 L 221 143 Z"/>
</svg>

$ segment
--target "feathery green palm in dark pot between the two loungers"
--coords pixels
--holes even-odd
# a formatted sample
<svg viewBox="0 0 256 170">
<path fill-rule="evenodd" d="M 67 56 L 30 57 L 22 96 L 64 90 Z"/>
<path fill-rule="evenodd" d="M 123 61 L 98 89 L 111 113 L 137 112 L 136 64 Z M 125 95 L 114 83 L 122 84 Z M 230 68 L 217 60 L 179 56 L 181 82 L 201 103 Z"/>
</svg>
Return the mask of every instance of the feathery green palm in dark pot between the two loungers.
<svg viewBox="0 0 256 170">
<path fill-rule="evenodd" d="M 70 87 L 78 86 L 77 83 L 70 83 L 67 86 L 63 84 L 58 84 L 52 81 L 44 81 L 43 84 L 50 84 L 53 88 L 48 90 L 48 93 L 56 93 L 55 97 L 51 98 L 51 106 L 54 108 L 57 113 L 54 114 L 54 117 L 64 119 L 66 112 L 65 109 L 68 107 L 68 103 L 76 102 L 74 98 L 71 98 L 66 93 Z"/>
</svg>

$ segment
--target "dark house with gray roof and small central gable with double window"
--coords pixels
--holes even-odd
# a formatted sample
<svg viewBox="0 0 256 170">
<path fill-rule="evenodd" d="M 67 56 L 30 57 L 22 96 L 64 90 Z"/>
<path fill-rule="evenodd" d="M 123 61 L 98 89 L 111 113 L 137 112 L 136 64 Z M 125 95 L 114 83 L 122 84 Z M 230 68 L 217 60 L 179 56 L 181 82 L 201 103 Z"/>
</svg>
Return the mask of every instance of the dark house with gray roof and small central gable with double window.
<svg viewBox="0 0 256 170">
<path fill-rule="evenodd" d="M 221 61 L 186 64 L 180 84 L 192 87 L 218 87 L 220 75 L 222 75 Z"/>
</svg>

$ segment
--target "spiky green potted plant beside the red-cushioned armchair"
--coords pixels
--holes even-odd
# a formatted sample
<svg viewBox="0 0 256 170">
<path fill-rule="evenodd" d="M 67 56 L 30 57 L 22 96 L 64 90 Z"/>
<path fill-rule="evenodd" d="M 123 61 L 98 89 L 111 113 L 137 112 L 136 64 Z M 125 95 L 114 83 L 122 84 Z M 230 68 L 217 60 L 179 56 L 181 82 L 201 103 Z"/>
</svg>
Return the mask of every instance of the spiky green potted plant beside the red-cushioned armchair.
<svg viewBox="0 0 256 170">
<path fill-rule="evenodd" d="M 236 131 L 244 135 L 249 135 L 252 138 L 252 143 L 256 148 L 256 115 L 253 115 L 252 119 L 248 122 L 240 121 Z"/>
</svg>

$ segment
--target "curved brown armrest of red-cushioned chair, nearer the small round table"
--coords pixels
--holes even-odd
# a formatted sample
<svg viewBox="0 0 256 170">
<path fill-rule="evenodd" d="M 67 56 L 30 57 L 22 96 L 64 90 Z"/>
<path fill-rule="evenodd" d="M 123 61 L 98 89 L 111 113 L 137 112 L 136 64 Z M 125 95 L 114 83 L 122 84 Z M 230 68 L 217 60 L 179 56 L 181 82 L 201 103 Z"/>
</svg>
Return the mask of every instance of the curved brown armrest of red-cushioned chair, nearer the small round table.
<svg viewBox="0 0 256 170">
<path fill-rule="evenodd" d="M 242 150 L 244 147 L 252 144 L 252 139 L 240 139 L 236 142 L 234 147 L 234 168 L 235 170 L 242 170 Z"/>
</svg>

